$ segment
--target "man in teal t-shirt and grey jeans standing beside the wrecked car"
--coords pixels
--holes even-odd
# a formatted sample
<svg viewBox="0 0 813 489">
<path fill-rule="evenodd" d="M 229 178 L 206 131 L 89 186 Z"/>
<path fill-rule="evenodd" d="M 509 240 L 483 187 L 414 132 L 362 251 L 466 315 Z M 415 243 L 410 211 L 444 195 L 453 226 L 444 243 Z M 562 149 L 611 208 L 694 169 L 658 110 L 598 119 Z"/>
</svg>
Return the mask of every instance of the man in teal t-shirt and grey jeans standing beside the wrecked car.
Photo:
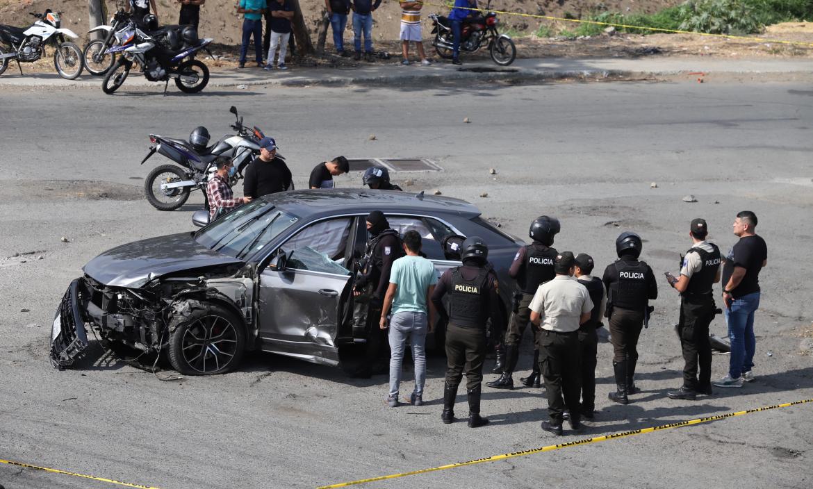
<svg viewBox="0 0 813 489">
<path fill-rule="evenodd" d="M 415 364 L 415 391 L 410 396 L 413 405 L 424 404 L 426 380 L 426 334 L 432 332 L 435 310 L 428 297 L 437 283 L 437 270 L 432 262 L 420 257 L 421 237 L 417 231 L 407 231 L 403 237 L 405 257 L 393 262 L 389 272 L 389 288 L 381 309 L 380 328 L 387 329 L 387 311 L 393 307 L 389 321 L 389 396 L 387 404 L 398 405 L 398 387 L 401 383 L 401 364 L 406 340 L 410 340 L 412 360 Z M 428 322 L 427 322 L 428 319 Z"/>
</svg>

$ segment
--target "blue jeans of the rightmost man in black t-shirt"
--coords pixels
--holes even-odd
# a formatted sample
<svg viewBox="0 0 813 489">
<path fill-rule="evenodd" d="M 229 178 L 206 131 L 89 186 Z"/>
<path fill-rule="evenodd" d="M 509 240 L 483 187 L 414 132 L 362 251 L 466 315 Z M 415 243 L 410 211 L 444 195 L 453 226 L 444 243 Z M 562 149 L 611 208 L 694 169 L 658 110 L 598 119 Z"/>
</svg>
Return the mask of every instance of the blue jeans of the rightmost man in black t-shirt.
<svg viewBox="0 0 813 489">
<path fill-rule="evenodd" d="M 731 342 L 728 375 L 732 379 L 739 379 L 743 372 L 754 367 L 754 350 L 757 346 L 754 336 L 754 313 L 757 309 L 759 309 L 759 292 L 734 299 L 731 307 L 725 309 L 728 340 Z"/>
</svg>

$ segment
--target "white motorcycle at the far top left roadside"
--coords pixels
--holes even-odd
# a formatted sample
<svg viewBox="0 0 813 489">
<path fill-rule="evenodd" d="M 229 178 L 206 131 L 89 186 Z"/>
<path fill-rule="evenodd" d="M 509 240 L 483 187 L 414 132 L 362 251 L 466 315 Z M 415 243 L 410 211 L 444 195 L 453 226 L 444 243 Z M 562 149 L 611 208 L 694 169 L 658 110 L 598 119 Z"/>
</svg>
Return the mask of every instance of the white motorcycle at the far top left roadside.
<svg viewBox="0 0 813 489">
<path fill-rule="evenodd" d="M 74 80 L 82 73 L 82 50 L 79 46 L 65 41 L 65 37 L 76 39 L 71 29 L 60 28 L 59 14 L 46 10 L 44 14 L 28 12 L 37 18 L 28 28 L 13 27 L 0 24 L 0 41 L 7 47 L 0 47 L 0 75 L 6 71 L 9 60 L 14 59 L 20 67 L 20 62 L 33 63 L 45 55 L 45 45 L 54 45 L 54 67 L 59 76 L 67 80 Z"/>
</svg>

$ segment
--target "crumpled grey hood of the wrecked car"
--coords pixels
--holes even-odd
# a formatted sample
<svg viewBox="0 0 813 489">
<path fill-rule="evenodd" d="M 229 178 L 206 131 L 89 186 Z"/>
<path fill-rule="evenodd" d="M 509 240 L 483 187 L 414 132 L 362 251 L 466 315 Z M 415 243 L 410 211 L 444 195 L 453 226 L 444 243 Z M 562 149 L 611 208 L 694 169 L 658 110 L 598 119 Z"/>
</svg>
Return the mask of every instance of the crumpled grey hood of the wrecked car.
<svg viewBox="0 0 813 489">
<path fill-rule="evenodd" d="M 241 263 L 198 244 L 193 233 L 182 232 L 122 244 L 93 258 L 82 270 L 105 285 L 140 288 L 173 272 Z"/>
</svg>

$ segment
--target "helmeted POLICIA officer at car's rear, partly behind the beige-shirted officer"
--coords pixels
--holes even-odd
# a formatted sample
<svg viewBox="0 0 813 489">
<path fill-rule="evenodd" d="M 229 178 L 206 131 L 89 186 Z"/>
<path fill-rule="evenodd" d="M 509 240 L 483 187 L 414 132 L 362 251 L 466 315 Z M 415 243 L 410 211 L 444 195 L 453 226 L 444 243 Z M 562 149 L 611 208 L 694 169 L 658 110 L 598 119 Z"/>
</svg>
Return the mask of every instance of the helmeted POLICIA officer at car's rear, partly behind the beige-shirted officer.
<svg viewBox="0 0 813 489">
<path fill-rule="evenodd" d="M 511 263 L 508 274 L 511 275 L 512 279 L 516 279 L 517 290 L 514 292 L 514 309 L 506 332 L 505 364 L 500 378 L 486 384 L 489 387 L 497 389 L 514 388 L 514 379 L 511 375 L 514 373 L 516 362 L 520 357 L 520 341 L 525 329 L 528 327 L 528 323 L 531 321 L 531 309 L 528 309 L 528 306 L 531 304 L 533 294 L 537 292 L 537 288 L 556 276 L 554 260 L 558 252 L 556 249 L 551 248 L 550 245 L 554 244 L 554 236 L 560 230 L 559 219 L 546 215 L 534 219 L 528 231 L 528 236 L 533 240 L 533 243 L 520 248 L 520 251 L 514 257 L 514 262 Z M 532 340 L 536 344 L 539 328 L 531 324 L 531 331 L 533 333 Z M 539 350 L 537 348 L 533 350 L 533 370 L 530 376 L 520 379 L 520 382 L 527 387 L 541 387 Z"/>
</svg>

